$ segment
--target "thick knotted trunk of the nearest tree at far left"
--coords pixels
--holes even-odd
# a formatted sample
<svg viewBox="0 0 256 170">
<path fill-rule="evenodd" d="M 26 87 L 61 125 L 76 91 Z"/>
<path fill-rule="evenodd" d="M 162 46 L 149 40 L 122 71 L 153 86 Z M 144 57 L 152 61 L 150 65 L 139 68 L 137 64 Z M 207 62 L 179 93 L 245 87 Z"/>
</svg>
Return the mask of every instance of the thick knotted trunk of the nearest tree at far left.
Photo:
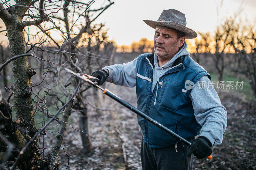
<svg viewBox="0 0 256 170">
<path fill-rule="evenodd" d="M 15 12 L 12 11 L 12 19 L 5 25 L 11 56 L 26 54 L 25 38 L 23 29 L 20 29 L 19 27 L 20 23 L 21 17 L 15 15 Z M 31 76 L 28 74 L 29 68 L 27 57 L 20 57 L 12 61 L 14 106 L 18 106 L 14 107 L 15 120 L 20 120 L 19 130 L 16 132 L 20 134 L 21 137 L 25 137 L 26 140 L 29 140 L 36 134 L 35 122 L 34 119 L 31 119 L 33 110 L 28 108 L 33 107 L 32 89 L 29 89 L 32 85 L 30 81 Z M 19 149 L 22 149 L 22 147 L 20 146 Z M 43 159 L 38 151 L 38 142 L 36 138 L 33 143 L 33 149 L 28 149 L 26 151 L 27 154 L 25 152 L 20 159 L 18 163 L 20 170 L 31 169 L 32 167 L 36 167 L 37 169 L 44 168 Z M 46 168 L 47 167 L 44 169 Z"/>
</svg>

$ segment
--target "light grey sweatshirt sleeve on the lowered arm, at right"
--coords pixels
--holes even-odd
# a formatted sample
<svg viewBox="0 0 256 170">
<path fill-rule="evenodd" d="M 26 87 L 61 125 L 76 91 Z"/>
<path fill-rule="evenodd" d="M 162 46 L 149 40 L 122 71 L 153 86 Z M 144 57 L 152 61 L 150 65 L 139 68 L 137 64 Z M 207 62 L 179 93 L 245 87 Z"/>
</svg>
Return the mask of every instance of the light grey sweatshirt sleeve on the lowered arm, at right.
<svg viewBox="0 0 256 170">
<path fill-rule="evenodd" d="M 201 77 L 189 97 L 196 121 L 202 126 L 200 136 L 209 139 L 213 146 L 221 144 L 227 127 L 227 110 L 222 106 L 210 79 L 207 76 Z"/>
</svg>

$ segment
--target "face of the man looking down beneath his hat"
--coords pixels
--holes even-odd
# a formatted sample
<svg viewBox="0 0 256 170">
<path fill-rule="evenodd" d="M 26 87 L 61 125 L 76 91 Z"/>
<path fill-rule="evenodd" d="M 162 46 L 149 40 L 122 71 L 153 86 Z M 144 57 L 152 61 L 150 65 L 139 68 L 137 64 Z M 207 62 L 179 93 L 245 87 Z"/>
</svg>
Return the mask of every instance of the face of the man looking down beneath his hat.
<svg viewBox="0 0 256 170">
<path fill-rule="evenodd" d="M 184 40 L 181 40 L 182 42 L 180 39 L 177 40 L 177 33 L 172 28 L 156 28 L 154 36 L 154 48 L 156 55 L 160 60 L 169 61 L 179 51 Z"/>
</svg>

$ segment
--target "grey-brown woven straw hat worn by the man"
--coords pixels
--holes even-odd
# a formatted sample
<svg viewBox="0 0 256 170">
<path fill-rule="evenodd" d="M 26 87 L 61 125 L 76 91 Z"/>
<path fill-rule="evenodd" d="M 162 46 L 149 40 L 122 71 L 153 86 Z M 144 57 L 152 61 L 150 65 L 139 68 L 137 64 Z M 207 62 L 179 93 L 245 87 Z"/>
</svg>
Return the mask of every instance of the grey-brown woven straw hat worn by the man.
<svg viewBox="0 0 256 170">
<path fill-rule="evenodd" d="M 187 21 L 185 14 L 178 10 L 164 10 L 157 21 L 143 20 L 146 24 L 156 29 L 156 26 L 166 26 L 185 33 L 186 39 L 196 38 L 197 34 L 192 29 L 186 27 Z"/>
</svg>

